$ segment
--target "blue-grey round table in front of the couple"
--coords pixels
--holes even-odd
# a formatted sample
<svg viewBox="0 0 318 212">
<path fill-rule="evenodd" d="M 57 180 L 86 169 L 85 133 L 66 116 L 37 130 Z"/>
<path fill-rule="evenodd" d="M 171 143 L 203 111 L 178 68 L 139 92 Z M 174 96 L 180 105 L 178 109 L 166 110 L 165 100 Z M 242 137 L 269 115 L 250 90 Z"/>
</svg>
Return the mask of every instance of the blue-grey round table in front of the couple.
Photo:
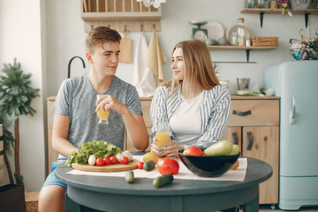
<svg viewBox="0 0 318 212">
<path fill-rule="evenodd" d="M 143 155 L 144 153 L 134 153 Z M 243 182 L 175 179 L 155 188 L 153 179 L 66 175 L 73 170 L 61 164 L 56 176 L 66 184 L 66 211 L 216 211 L 240 206 L 243 211 L 259 211 L 259 184 L 269 179 L 272 167 L 247 158 Z"/>
</svg>

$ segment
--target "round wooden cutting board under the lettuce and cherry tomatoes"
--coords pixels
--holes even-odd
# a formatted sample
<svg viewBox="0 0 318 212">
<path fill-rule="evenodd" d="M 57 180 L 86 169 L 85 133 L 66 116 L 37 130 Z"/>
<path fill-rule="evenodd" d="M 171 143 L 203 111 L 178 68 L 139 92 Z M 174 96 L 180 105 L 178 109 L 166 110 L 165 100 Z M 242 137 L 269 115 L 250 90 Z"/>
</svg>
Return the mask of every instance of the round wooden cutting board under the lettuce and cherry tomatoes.
<svg viewBox="0 0 318 212">
<path fill-rule="evenodd" d="M 81 165 L 78 163 L 72 163 L 72 167 L 76 170 L 86 172 L 124 172 L 128 170 L 136 170 L 139 160 L 133 159 L 128 164 L 122 163 L 110 164 L 110 165 Z"/>
</svg>

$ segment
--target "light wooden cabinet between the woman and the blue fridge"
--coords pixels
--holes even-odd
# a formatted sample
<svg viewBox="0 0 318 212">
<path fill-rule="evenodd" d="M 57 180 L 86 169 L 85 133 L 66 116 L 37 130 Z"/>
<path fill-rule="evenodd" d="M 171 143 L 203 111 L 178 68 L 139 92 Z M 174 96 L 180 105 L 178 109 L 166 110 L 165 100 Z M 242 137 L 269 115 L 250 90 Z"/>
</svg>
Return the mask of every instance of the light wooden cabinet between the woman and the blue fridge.
<svg viewBox="0 0 318 212">
<path fill-rule="evenodd" d="M 243 156 L 273 167 L 259 185 L 259 204 L 278 203 L 279 98 L 232 97 L 228 130 L 221 140 L 237 143 Z"/>
</svg>

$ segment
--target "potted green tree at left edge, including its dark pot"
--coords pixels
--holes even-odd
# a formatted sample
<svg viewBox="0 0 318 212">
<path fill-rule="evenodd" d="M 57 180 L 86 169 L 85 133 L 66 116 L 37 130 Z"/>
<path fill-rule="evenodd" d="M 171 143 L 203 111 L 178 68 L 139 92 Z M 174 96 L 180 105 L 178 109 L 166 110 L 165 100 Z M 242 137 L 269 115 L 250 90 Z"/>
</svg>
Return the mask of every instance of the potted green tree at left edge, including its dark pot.
<svg viewBox="0 0 318 212">
<path fill-rule="evenodd" d="M 40 89 L 30 87 L 32 74 L 23 73 L 16 58 L 13 64 L 4 64 L 2 71 L 4 74 L 0 77 L 0 123 L 4 128 L 2 136 L 4 151 L 1 154 L 4 155 L 10 184 L 0 187 L 0 211 L 25 211 L 23 176 L 20 175 L 19 160 L 19 117 L 24 114 L 33 116 L 36 111 L 30 106 L 30 103 L 33 98 L 40 96 L 38 94 Z M 14 122 L 15 139 L 8 131 L 12 122 Z M 7 158 L 7 154 L 11 154 L 11 146 L 14 146 L 15 184 Z"/>
</svg>

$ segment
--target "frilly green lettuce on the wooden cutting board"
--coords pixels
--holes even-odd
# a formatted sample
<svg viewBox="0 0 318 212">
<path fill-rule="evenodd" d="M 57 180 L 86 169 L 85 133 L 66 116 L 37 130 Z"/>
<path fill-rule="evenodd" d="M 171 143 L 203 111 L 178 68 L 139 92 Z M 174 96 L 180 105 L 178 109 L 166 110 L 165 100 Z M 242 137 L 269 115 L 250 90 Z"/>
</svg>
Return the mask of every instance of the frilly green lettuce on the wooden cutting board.
<svg viewBox="0 0 318 212">
<path fill-rule="evenodd" d="M 92 141 L 82 143 L 81 148 L 78 149 L 78 153 L 71 152 L 65 165 L 71 167 L 72 163 L 88 164 L 88 158 L 90 155 L 95 155 L 96 158 L 106 158 L 109 155 L 117 155 L 122 153 L 122 150 L 114 146 L 114 144 L 107 141 Z"/>
</svg>

